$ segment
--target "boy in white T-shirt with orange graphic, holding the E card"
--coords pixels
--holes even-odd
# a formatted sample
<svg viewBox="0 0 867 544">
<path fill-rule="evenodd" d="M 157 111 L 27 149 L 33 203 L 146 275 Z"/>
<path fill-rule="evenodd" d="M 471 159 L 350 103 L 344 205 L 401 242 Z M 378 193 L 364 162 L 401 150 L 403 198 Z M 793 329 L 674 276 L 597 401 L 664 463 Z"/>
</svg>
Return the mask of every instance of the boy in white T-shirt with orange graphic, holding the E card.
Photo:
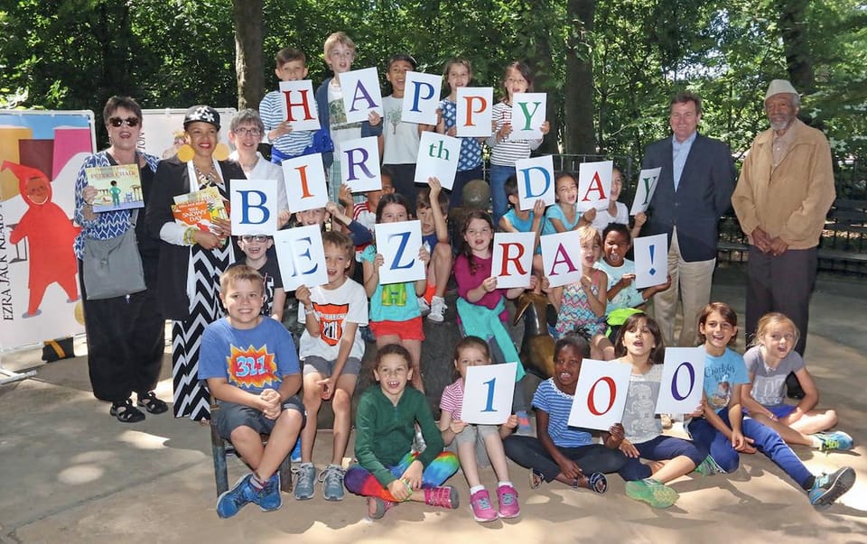
<svg viewBox="0 0 867 544">
<path fill-rule="evenodd" d="M 311 424 L 301 437 L 301 466 L 296 469 L 294 496 L 312 499 L 316 467 L 312 463 L 316 416 L 322 401 L 331 401 L 334 434 L 331 464 L 320 475 L 326 501 L 343 499 L 343 454 L 350 439 L 350 400 L 359 378 L 364 340 L 359 326 L 368 324 L 368 297 L 348 277 L 354 246 L 349 236 L 333 230 L 322 233 L 328 283 L 295 291 L 300 302 L 298 320 L 304 324 L 300 356 L 304 362 L 304 406 Z"/>
</svg>

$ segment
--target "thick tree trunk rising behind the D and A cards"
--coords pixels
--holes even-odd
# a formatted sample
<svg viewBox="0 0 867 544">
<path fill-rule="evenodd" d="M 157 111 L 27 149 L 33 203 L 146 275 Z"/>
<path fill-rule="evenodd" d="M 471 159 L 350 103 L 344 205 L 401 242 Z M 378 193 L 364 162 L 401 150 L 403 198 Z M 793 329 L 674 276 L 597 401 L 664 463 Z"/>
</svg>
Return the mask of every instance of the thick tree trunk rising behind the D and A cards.
<svg viewBox="0 0 867 544">
<path fill-rule="evenodd" d="M 591 33 L 596 1 L 568 0 L 566 10 L 572 23 L 566 42 L 564 151 L 592 154 L 596 152 L 596 138 L 593 131 Z"/>
</svg>

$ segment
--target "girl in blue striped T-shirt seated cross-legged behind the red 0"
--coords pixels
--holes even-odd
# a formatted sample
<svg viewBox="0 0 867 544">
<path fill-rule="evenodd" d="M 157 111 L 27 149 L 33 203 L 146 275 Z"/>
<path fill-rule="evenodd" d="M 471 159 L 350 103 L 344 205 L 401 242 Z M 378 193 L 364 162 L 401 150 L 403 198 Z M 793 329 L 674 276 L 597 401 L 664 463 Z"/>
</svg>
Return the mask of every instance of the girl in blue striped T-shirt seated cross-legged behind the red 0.
<svg viewBox="0 0 867 544">
<path fill-rule="evenodd" d="M 590 431 L 569 426 L 581 363 L 589 356 L 590 346 L 582 337 L 570 335 L 557 340 L 554 376 L 539 383 L 533 396 L 538 438 L 512 435 L 503 440 L 506 456 L 530 469 L 531 489 L 556 480 L 573 489 L 605 493 L 605 475 L 618 472 L 627 462 L 618 449 L 623 440 L 620 423 L 601 433 L 601 444 L 592 443 Z"/>
</svg>

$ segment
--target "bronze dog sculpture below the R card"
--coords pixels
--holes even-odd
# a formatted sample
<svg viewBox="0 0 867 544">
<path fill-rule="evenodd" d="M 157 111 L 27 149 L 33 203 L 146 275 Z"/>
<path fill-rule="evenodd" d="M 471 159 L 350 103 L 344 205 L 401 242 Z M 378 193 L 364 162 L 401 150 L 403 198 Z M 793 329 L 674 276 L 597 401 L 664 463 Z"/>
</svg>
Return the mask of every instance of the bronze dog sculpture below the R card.
<svg viewBox="0 0 867 544">
<path fill-rule="evenodd" d="M 543 294 L 525 292 L 517 298 L 515 318 L 524 319 L 524 339 L 521 341 L 521 362 L 527 372 L 543 380 L 554 375 L 554 337 L 548 333 L 546 312 L 548 298 Z"/>
</svg>

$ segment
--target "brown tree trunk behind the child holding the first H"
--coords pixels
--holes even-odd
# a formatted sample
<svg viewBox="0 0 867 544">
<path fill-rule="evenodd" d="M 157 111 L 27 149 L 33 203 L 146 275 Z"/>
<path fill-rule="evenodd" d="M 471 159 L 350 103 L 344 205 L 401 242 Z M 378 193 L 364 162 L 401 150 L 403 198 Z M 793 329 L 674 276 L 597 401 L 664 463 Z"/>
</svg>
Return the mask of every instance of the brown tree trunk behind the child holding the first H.
<svg viewBox="0 0 867 544">
<path fill-rule="evenodd" d="M 262 71 L 262 0 L 232 0 L 238 109 L 257 107 L 265 94 Z"/>
</svg>

